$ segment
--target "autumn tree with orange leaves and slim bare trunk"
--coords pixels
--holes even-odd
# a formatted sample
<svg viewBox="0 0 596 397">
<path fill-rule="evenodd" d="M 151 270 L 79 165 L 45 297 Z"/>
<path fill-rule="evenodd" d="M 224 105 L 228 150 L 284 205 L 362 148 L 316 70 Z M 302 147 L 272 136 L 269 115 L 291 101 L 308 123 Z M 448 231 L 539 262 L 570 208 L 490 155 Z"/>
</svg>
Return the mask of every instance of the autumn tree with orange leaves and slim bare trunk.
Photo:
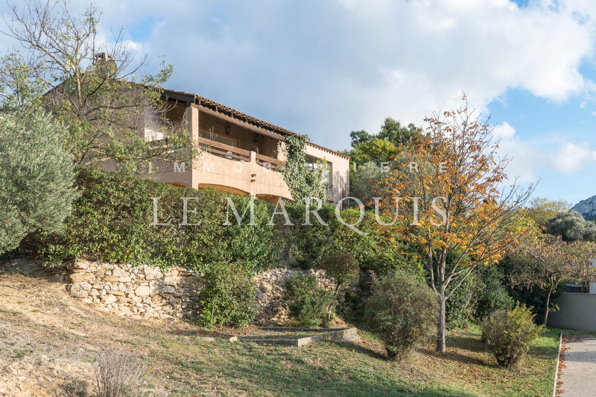
<svg viewBox="0 0 596 397">
<path fill-rule="evenodd" d="M 436 293 L 440 352 L 446 301 L 475 269 L 498 263 L 517 243 L 532 191 L 508 181 L 509 160 L 499 158 L 492 126 L 462 100 L 462 107 L 424 120 L 426 134 L 402 147 L 373 197 L 386 238 L 405 248 Z"/>
</svg>

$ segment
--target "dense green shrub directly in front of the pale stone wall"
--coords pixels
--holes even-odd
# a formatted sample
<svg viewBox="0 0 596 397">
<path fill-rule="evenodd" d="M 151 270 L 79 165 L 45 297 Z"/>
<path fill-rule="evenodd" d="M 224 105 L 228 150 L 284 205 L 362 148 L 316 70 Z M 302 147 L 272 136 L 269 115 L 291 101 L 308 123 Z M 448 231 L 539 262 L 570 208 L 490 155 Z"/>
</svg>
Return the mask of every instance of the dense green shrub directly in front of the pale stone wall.
<svg viewBox="0 0 596 397">
<path fill-rule="evenodd" d="M 241 327 L 256 315 L 254 286 L 246 269 L 235 263 L 216 263 L 202 278 L 199 322 L 207 327 Z"/>
</svg>

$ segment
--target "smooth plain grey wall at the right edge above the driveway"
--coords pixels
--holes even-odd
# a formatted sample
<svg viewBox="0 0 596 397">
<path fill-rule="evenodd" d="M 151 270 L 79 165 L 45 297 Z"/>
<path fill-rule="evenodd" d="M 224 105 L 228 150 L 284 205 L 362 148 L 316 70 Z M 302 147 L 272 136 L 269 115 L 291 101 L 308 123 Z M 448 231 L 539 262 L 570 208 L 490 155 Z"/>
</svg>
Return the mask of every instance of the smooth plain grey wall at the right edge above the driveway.
<svg viewBox="0 0 596 397">
<path fill-rule="evenodd" d="M 564 293 L 558 311 L 548 315 L 548 325 L 567 330 L 596 330 L 596 294 Z"/>
</svg>

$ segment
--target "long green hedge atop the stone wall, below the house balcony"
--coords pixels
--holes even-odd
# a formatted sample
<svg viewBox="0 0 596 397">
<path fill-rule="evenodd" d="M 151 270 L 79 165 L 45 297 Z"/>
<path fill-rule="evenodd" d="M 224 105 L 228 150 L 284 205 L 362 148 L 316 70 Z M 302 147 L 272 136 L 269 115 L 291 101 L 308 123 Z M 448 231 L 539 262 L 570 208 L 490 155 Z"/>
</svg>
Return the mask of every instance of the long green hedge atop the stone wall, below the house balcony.
<svg viewBox="0 0 596 397">
<path fill-rule="evenodd" d="M 325 205 L 320 211 L 328 226 L 305 223 L 305 206 L 286 203 L 294 226 L 284 226 L 284 217 L 276 215 L 274 226 L 266 225 L 274 205 L 254 199 L 256 225 L 247 225 L 249 217 L 238 225 L 227 201 L 230 197 L 240 215 L 250 198 L 222 193 L 215 189 L 181 189 L 151 179 L 137 178 L 98 168 L 80 168 L 76 182 L 81 196 L 60 233 L 38 231 L 21 244 L 21 251 L 35 253 L 48 262 L 84 258 L 132 265 L 182 266 L 206 271 L 216 263 L 241 263 L 249 273 L 263 268 L 288 265 L 316 268 L 330 249 L 342 249 L 364 269 L 386 272 L 399 267 L 377 228 L 374 214 L 367 212 L 358 225 L 368 234 L 358 234 L 336 219 L 335 207 Z M 157 201 L 157 221 L 169 226 L 152 225 L 153 197 Z M 181 197 L 188 200 L 188 223 L 182 223 Z M 248 215 L 248 213 L 247 213 Z M 342 211 L 346 222 L 355 223 L 359 212 Z"/>
</svg>

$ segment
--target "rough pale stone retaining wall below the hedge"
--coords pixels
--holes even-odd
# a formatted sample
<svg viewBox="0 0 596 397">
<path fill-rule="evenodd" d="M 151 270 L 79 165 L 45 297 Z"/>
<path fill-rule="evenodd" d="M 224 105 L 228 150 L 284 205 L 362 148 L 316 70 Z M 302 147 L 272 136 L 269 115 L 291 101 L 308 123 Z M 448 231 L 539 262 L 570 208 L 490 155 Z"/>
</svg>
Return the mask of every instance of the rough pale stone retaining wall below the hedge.
<svg viewBox="0 0 596 397">
<path fill-rule="evenodd" d="M 104 312 L 140 318 L 194 318 L 201 311 L 201 275 L 174 267 L 161 271 L 152 266 L 70 260 L 62 266 L 41 268 L 31 260 L 14 260 L 5 264 L 8 270 L 26 274 L 49 275 L 66 284 L 70 295 L 95 305 Z M 284 283 L 297 274 L 314 275 L 319 285 L 333 289 L 333 282 L 321 270 L 274 268 L 252 278 L 254 283 L 255 322 L 281 322 L 287 319 L 283 305 Z M 363 273 L 360 282 L 351 286 L 352 293 L 366 296 L 374 277 Z"/>
</svg>

